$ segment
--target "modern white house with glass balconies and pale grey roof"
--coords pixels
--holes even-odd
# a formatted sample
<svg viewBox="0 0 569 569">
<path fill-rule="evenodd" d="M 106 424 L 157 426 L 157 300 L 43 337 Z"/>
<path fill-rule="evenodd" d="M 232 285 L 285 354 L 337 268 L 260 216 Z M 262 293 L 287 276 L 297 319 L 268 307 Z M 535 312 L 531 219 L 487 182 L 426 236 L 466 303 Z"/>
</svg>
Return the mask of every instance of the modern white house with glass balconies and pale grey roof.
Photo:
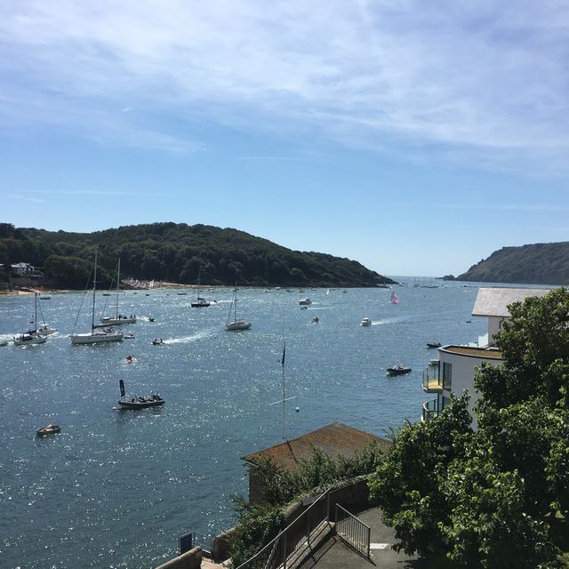
<svg viewBox="0 0 569 569">
<path fill-rule="evenodd" d="M 504 320 L 511 317 L 509 305 L 524 301 L 530 296 L 544 296 L 550 289 L 534 288 L 480 288 L 472 309 L 473 317 L 488 318 L 488 333 L 477 341 L 477 345 L 455 346 L 450 344 L 438 348 L 437 360 L 431 361 L 423 372 L 423 390 L 435 394 L 423 404 L 422 421 L 437 417 L 450 401 L 452 393 L 460 395 L 468 389 L 469 408 L 472 415 L 472 427 L 477 429 L 477 417 L 473 411 L 478 393 L 474 389 L 475 368 L 483 363 L 500 365 L 501 351 L 496 348 L 494 336 L 500 332 Z"/>
</svg>

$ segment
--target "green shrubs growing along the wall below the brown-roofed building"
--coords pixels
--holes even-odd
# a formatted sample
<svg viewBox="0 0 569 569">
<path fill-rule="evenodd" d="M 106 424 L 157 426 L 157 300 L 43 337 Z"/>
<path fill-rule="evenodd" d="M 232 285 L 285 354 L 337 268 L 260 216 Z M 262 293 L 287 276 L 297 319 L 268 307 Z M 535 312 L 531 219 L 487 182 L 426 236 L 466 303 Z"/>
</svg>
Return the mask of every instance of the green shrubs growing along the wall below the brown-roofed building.
<svg viewBox="0 0 569 569">
<path fill-rule="evenodd" d="M 340 456 L 334 460 L 314 448 L 310 460 L 300 461 L 293 472 L 280 469 L 274 461 L 260 462 L 258 468 L 266 489 L 266 502 L 250 504 L 240 496 L 233 498 L 238 516 L 230 540 L 233 566 L 237 567 L 251 558 L 284 528 L 287 504 L 371 474 L 379 464 L 381 453 L 379 445 L 373 443 L 352 458 Z"/>
</svg>

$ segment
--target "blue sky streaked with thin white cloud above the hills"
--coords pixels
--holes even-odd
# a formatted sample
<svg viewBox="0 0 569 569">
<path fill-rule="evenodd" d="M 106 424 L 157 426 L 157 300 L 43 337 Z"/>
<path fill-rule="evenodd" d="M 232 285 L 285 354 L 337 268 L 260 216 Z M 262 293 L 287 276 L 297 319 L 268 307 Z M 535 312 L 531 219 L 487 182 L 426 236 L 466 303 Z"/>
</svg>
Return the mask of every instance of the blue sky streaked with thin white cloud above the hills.
<svg viewBox="0 0 569 569">
<path fill-rule="evenodd" d="M 384 275 L 567 241 L 567 37 L 556 0 L 0 2 L 0 220 Z"/>
</svg>

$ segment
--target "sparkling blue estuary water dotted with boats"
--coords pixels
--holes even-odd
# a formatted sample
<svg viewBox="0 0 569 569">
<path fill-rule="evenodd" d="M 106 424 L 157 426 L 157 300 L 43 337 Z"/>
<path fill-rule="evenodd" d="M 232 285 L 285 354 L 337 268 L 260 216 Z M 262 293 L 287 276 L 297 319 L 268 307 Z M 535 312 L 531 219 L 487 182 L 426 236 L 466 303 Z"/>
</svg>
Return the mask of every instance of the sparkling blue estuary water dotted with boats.
<svg viewBox="0 0 569 569">
<path fill-rule="evenodd" d="M 247 493 L 240 457 L 281 442 L 282 407 L 270 404 L 281 398 L 283 339 L 294 397 L 285 437 L 334 421 L 385 436 L 418 421 L 429 398 L 421 373 L 436 356 L 426 343 L 476 341 L 486 322 L 470 316 L 477 285 L 394 278 L 407 283 L 394 287 L 397 305 L 381 288 L 240 290 L 237 316 L 252 321 L 244 332 L 224 329 L 231 289 L 203 290 L 216 301 L 206 309 L 190 308 L 191 289 L 128 291 L 119 310 L 139 318 L 123 326 L 134 340 L 94 346 L 68 337 L 83 293 L 39 301 L 58 333 L 0 348 L 0 565 L 148 568 L 175 555 L 182 533 L 228 529 L 229 496 Z M 114 302 L 98 297 L 98 311 L 104 300 Z M 33 302 L 0 297 L 0 340 L 28 329 Z M 373 325 L 361 326 L 363 317 Z M 90 323 L 80 315 L 76 332 Z M 388 377 L 399 364 L 413 372 Z M 127 394 L 155 390 L 166 404 L 116 411 L 120 379 Z M 60 435 L 36 437 L 47 423 Z"/>
</svg>

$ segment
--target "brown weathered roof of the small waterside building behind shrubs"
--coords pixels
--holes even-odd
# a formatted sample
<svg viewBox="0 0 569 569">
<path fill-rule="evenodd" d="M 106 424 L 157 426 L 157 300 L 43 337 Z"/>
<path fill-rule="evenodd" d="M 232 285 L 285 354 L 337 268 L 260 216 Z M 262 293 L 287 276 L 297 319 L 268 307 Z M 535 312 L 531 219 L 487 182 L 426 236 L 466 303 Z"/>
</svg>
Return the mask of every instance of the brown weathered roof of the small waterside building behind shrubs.
<svg viewBox="0 0 569 569">
<path fill-rule="evenodd" d="M 285 470 L 293 470 L 299 461 L 309 461 L 312 458 L 315 447 L 333 458 L 338 456 L 350 458 L 357 450 L 371 445 L 373 441 L 379 443 L 382 450 L 387 450 L 391 446 L 389 441 L 371 433 L 341 423 L 332 423 L 280 445 L 248 454 L 242 459 L 252 464 L 256 464 L 259 459 L 272 459 L 277 466 Z"/>
</svg>

